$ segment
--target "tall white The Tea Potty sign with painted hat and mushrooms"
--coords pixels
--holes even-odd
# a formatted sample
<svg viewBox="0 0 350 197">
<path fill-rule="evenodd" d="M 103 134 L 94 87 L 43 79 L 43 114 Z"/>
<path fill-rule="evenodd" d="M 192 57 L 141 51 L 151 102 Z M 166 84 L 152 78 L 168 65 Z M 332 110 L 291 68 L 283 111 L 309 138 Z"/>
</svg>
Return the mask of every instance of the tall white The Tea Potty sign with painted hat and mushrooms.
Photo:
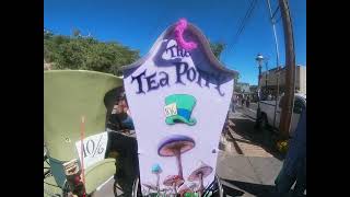
<svg viewBox="0 0 350 197">
<path fill-rule="evenodd" d="M 232 97 L 236 72 L 220 65 L 197 27 L 177 27 L 124 70 L 143 195 L 200 192 L 214 179 Z"/>
</svg>

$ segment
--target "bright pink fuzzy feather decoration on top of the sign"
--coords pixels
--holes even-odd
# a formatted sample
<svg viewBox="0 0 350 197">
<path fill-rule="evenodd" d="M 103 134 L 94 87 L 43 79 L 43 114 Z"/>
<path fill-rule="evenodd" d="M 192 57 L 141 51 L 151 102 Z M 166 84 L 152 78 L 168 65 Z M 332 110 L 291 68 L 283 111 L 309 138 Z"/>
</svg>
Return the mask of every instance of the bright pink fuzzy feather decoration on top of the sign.
<svg viewBox="0 0 350 197">
<path fill-rule="evenodd" d="M 195 42 L 186 42 L 184 39 L 184 32 L 187 28 L 187 21 L 186 19 L 180 19 L 175 26 L 175 39 L 177 44 L 184 48 L 185 50 L 192 50 L 197 48 L 197 44 Z"/>
</svg>

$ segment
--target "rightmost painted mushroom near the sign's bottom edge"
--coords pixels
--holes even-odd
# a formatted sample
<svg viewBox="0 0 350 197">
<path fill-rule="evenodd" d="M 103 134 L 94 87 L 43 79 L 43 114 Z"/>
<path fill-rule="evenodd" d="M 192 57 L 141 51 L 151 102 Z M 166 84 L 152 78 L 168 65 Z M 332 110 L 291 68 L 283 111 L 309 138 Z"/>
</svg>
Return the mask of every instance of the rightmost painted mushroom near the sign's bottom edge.
<svg viewBox="0 0 350 197">
<path fill-rule="evenodd" d="M 205 164 L 203 162 L 200 162 L 199 166 L 188 176 L 189 182 L 199 181 L 199 184 L 200 184 L 198 188 L 199 196 L 202 195 L 205 189 L 203 178 L 207 177 L 209 174 L 211 174 L 211 172 L 212 172 L 211 166 Z"/>
</svg>

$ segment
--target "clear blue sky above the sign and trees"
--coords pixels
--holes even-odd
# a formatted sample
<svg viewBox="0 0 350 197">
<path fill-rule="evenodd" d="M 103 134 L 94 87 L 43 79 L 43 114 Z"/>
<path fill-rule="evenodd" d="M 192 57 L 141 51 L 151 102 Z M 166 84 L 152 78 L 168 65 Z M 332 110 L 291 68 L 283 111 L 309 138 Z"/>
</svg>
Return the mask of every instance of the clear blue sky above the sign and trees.
<svg viewBox="0 0 350 197">
<path fill-rule="evenodd" d="M 252 0 L 44 0 L 44 26 L 57 34 L 71 35 L 73 28 L 100 40 L 116 40 L 145 55 L 160 34 L 179 18 L 198 26 L 211 42 L 229 49 L 222 62 L 241 73 L 240 81 L 257 84 L 258 53 L 276 67 L 272 26 L 266 0 L 258 0 L 252 18 L 235 45 L 240 21 Z M 278 0 L 270 0 L 275 10 Z M 290 0 L 296 63 L 306 65 L 306 2 Z M 278 12 L 277 16 L 279 18 Z M 277 24 L 280 63 L 284 65 L 282 21 Z M 262 70 L 264 71 L 264 70 Z"/>
</svg>

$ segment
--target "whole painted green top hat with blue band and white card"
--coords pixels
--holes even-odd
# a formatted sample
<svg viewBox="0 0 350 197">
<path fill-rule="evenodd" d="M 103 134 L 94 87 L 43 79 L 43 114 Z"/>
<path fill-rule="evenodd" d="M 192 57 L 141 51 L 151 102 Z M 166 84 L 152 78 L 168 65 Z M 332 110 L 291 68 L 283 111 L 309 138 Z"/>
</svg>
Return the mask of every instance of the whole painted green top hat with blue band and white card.
<svg viewBox="0 0 350 197">
<path fill-rule="evenodd" d="M 174 125 L 175 123 L 185 123 L 195 125 L 197 120 L 190 118 L 190 114 L 196 105 L 196 99 L 188 94 L 172 94 L 165 97 L 165 123 Z"/>
</svg>

